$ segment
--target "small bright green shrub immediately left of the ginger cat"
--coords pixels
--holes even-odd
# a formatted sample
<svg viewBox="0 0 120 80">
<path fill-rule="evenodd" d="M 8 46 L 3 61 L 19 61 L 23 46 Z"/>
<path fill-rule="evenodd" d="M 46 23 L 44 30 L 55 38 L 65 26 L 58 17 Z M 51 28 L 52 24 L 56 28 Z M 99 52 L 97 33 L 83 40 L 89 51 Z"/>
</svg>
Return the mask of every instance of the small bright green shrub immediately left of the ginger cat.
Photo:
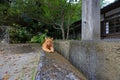
<svg viewBox="0 0 120 80">
<path fill-rule="evenodd" d="M 41 45 L 43 44 L 45 37 L 47 37 L 46 33 L 45 34 L 38 34 L 35 35 L 31 38 L 31 43 L 40 43 Z"/>
</svg>

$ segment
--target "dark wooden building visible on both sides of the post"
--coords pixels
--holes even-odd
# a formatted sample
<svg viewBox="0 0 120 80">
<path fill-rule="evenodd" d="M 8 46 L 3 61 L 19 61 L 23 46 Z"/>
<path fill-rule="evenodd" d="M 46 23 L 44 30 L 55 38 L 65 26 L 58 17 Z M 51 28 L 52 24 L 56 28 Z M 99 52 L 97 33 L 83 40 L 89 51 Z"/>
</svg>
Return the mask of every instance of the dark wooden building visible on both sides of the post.
<svg viewBox="0 0 120 80">
<path fill-rule="evenodd" d="M 120 38 L 120 0 L 101 9 L 101 39 Z M 81 36 L 81 20 L 72 24 L 70 39 Z"/>
</svg>

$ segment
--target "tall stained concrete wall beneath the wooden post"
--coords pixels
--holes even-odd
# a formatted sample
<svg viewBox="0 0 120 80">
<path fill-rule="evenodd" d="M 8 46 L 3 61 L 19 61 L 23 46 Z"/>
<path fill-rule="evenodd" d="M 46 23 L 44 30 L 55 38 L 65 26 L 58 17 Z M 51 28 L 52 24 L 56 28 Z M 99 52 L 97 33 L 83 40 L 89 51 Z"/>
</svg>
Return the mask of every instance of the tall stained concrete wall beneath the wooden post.
<svg viewBox="0 0 120 80">
<path fill-rule="evenodd" d="M 120 80 L 120 41 L 55 41 L 54 46 L 89 80 Z"/>
</svg>

